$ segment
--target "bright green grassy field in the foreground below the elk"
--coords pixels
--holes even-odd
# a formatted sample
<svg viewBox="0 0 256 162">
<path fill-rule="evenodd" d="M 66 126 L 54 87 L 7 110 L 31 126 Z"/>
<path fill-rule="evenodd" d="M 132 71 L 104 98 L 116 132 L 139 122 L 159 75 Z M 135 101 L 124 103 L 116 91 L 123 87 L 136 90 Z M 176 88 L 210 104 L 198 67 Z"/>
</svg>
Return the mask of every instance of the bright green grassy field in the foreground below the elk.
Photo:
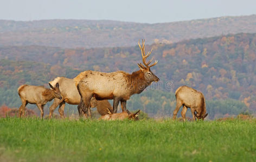
<svg viewBox="0 0 256 162">
<path fill-rule="evenodd" d="M 256 120 L 0 118 L 0 161 L 256 161 Z"/>
</svg>

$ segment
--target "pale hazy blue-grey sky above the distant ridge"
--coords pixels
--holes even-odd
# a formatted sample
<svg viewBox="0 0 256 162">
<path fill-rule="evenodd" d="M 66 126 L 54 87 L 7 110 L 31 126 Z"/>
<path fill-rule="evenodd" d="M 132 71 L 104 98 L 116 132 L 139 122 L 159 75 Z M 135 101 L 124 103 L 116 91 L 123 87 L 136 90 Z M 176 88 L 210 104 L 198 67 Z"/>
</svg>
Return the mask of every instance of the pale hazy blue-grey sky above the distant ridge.
<svg viewBox="0 0 256 162">
<path fill-rule="evenodd" d="M 159 23 L 256 14 L 255 0 L 0 0 L 0 19 L 109 19 Z"/>
</svg>

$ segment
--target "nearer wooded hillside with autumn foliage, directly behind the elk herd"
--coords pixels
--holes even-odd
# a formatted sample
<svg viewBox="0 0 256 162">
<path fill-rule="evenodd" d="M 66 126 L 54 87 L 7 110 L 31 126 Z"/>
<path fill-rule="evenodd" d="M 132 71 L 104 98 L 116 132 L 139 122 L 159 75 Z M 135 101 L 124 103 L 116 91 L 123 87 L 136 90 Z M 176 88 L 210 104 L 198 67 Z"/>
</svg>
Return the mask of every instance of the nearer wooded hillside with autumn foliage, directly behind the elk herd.
<svg viewBox="0 0 256 162">
<path fill-rule="evenodd" d="M 152 58 L 158 60 L 151 70 L 161 82 L 133 96 L 127 103 L 131 109 L 159 116 L 170 114 L 175 107 L 175 90 L 188 85 L 204 93 L 212 118 L 246 109 L 256 112 L 256 34 L 146 46 L 146 50 L 150 48 L 153 48 Z M 4 96 L 1 103 L 17 106 L 19 100 L 16 98 L 13 104 L 10 94 L 17 96 L 16 89 L 21 84 L 47 86 L 48 80 L 56 76 L 72 78 L 83 70 L 131 73 L 138 70 L 141 55 L 138 46 L 95 49 L 14 46 L 0 48 L 0 59 L 4 59 L 0 62 L 0 94 Z"/>
</svg>

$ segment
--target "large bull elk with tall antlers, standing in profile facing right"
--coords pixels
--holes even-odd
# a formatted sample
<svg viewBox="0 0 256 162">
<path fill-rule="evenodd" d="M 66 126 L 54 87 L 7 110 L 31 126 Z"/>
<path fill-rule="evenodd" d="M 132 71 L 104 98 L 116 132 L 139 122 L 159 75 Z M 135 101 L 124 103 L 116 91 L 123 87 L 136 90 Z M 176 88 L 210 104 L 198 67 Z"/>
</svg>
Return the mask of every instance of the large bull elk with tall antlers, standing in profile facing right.
<svg viewBox="0 0 256 162">
<path fill-rule="evenodd" d="M 153 74 L 150 68 L 157 64 L 157 61 L 152 65 L 152 59 L 146 62 L 152 52 L 145 54 L 145 42 L 142 40 L 142 46 L 139 48 L 142 52 L 143 63 L 139 63 L 138 71 L 132 74 L 124 71 L 116 71 L 111 73 L 98 71 L 84 71 L 74 78 L 75 84 L 78 87 L 81 96 L 81 102 L 78 107 L 82 107 L 82 111 L 86 112 L 89 107 L 89 102 L 92 97 L 97 100 L 113 99 L 113 110 L 117 113 L 117 107 L 121 102 L 121 108 L 126 110 L 126 100 L 130 99 L 133 94 L 141 93 L 152 82 L 158 82 L 159 78 Z M 82 106 L 84 103 L 85 106 Z"/>
</svg>

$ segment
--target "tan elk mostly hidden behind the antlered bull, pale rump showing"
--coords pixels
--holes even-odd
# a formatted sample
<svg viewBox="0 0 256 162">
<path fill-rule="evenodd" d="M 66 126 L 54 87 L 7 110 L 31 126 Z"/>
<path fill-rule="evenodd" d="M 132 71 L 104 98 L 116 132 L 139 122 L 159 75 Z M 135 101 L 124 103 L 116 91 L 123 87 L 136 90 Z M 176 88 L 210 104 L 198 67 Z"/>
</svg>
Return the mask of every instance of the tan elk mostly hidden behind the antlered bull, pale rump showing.
<svg viewBox="0 0 256 162">
<path fill-rule="evenodd" d="M 57 77 L 53 81 L 49 82 L 49 84 L 55 85 L 59 83 L 59 89 L 61 91 L 62 99 L 55 98 L 53 104 L 50 106 L 50 114 L 49 118 L 52 117 L 54 110 L 57 106 L 59 106 L 60 116 L 64 117 L 64 109 L 65 104 L 78 105 L 80 103 L 80 95 L 78 89 L 75 86 L 75 82 L 73 79 L 65 78 L 65 77 Z M 108 100 L 96 100 L 95 98 L 91 99 L 90 107 L 96 107 L 97 111 L 101 116 L 108 114 L 108 109 L 113 112 L 113 107 L 110 105 Z M 91 109 L 89 110 L 89 114 L 91 114 Z M 82 116 L 82 110 L 79 110 L 79 115 Z"/>
</svg>

